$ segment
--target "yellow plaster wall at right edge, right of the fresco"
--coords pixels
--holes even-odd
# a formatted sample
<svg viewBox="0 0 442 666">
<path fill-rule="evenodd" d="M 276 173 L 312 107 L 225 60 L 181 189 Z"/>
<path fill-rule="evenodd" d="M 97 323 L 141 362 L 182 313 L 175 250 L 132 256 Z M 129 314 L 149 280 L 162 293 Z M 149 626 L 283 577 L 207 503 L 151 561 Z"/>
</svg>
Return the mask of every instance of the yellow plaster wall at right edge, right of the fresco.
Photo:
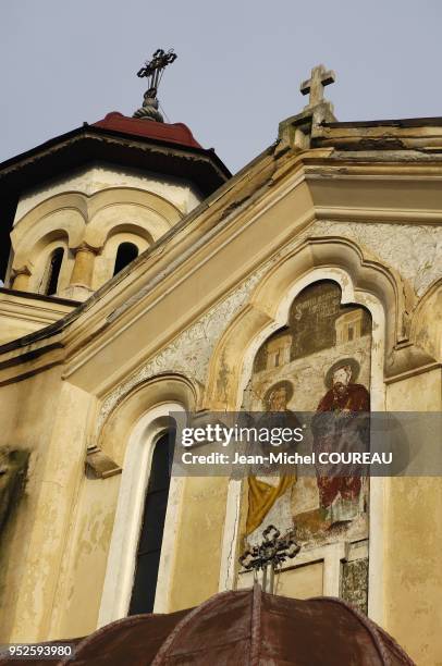
<svg viewBox="0 0 442 666">
<path fill-rule="evenodd" d="M 441 370 L 388 386 L 386 408 L 441 410 Z M 384 628 L 419 666 L 442 664 L 442 479 L 386 479 Z"/>
</svg>

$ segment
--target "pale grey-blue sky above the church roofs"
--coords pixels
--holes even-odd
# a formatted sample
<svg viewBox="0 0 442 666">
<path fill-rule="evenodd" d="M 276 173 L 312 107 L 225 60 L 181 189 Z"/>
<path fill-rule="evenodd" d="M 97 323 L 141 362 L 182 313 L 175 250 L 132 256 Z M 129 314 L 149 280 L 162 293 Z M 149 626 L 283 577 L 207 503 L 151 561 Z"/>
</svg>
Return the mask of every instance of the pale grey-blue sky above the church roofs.
<svg viewBox="0 0 442 666">
<path fill-rule="evenodd" d="M 103 118 L 132 115 L 157 48 L 160 102 L 237 171 L 298 113 L 319 63 L 340 121 L 442 115 L 439 0 L 1 0 L 0 160 Z"/>
</svg>

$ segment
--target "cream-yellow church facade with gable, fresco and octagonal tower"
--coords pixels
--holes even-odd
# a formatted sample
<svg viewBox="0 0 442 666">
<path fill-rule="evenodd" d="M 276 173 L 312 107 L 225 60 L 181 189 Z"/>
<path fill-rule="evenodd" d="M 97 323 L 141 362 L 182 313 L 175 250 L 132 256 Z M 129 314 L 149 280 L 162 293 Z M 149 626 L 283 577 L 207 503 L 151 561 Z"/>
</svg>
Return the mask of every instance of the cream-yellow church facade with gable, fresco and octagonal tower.
<svg viewBox="0 0 442 666">
<path fill-rule="evenodd" d="M 442 663 L 440 477 L 159 461 L 171 412 L 441 411 L 442 120 L 340 123 L 329 79 L 234 176 L 149 98 L 0 165 L 1 642 L 246 588 L 274 525 L 277 593 Z"/>
</svg>

